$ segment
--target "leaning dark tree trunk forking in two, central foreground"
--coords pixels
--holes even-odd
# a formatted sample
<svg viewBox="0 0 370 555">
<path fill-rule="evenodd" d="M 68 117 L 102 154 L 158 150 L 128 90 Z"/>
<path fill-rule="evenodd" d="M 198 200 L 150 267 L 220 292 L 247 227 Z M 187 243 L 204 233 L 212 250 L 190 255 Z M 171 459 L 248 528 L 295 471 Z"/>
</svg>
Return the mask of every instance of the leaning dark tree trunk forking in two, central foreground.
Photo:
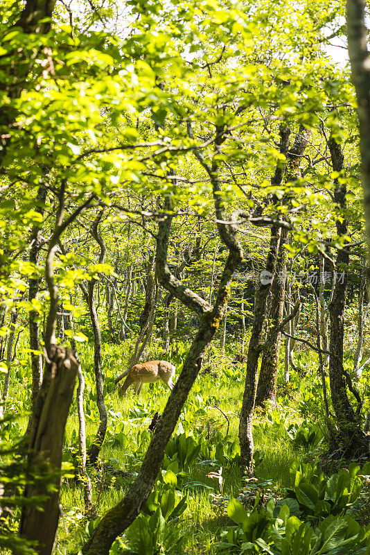
<svg viewBox="0 0 370 555">
<path fill-rule="evenodd" d="M 216 215 L 218 221 L 222 221 L 224 219 L 224 211 L 220 197 L 220 185 L 218 184 L 217 178 L 217 164 L 213 162 L 210 167 L 208 163 L 204 162 L 200 153 L 195 152 L 195 155 L 201 160 L 202 165 L 204 165 L 207 173 L 209 173 L 213 185 Z M 222 241 L 224 241 L 229 248 L 229 256 L 227 257 L 227 262 L 220 280 L 218 296 L 212 309 L 211 305 L 209 305 L 206 300 L 202 299 L 194 291 L 190 291 L 188 288 L 184 287 L 182 282 L 180 282 L 175 275 L 170 273 L 167 264 L 167 255 L 172 216 L 168 212 L 172 210 L 172 205 L 169 197 L 166 198 L 165 208 L 167 214 L 159 223 L 159 232 L 157 235 L 157 277 L 163 287 L 172 292 L 179 300 L 182 300 L 187 307 L 193 309 L 193 311 L 201 317 L 201 324 L 184 361 L 182 373 L 173 391 L 170 393 L 164 413 L 159 420 L 159 424 L 155 428 L 155 433 L 152 436 L 152 441 L 150 441 L 138 476 L 128 488 L 122 501 L 110 509 L 102 520 L 100 520 L 91 538 L 89 538 L 86 545 L 82 548 L 83 555 L 108 555 L 109 549 L 116 537 L 130 526 L 143 508 L 146 499 L 148 499 L 161 468 L 166 445 L 173 434 L 184 402 L 200 371 L 206 347 L 211 342 L 218 329 L 219 322 L 222 320 L 227 298 L 229 296 L 231 278 L 242 259 L 240 244 L 235 237 L 236 227 L 234 225 L 227 226 L 218 223 L 218 232 Z"/>
</svg>

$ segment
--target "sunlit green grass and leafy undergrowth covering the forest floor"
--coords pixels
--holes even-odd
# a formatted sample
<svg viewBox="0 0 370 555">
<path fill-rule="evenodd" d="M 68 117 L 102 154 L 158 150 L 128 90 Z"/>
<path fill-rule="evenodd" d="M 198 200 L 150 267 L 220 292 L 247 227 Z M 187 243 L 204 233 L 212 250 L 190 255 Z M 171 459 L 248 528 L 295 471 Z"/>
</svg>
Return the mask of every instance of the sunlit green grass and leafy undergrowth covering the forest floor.
<svg viewBox="0 0 370 555">
<path fill-rule="evenodd" d="M 103 371 L 106 375 L 105 387 L 108 391 L 114 383 L 117 369 L 127 361 L 129 351 L 130 348 L 126 344 L 120 347 L 103 343 Z M 22 350 L 20 350 L 20 355 L 21 352 Z M 127 355 L 123 355 L 122 359 L 122 355 L 120 357 L 118 352 L 127 353 Z M 80 357 L 84 361 L 85 368 L 91 367 L 92 369 L 94 367 L 94 346 L 91 343 L 81 343 Z M 171 359 L 170 357 L 171 355 L 169 359 Z M 239 506 L 238 503 L 242 504 L 244 511 L 247 511 L 243 513 L 244 515 L 254 513 L 260 515 L 258 519 L 265 522 L 268 529 L 279 524 L 278 532 L 280 534 L 283 534 L 282 529 L 285 529 L 285 535 L 288 533 L 286 526 L 288 520 L 293 518 L 288 524 L 288 528 L 292 528 L 290 536 L 296 534 L 302 526 L 301 536 L 297 536 L 297 545 L 300 545 L 299 542 L 304 543 L 304 534 L 310 536 L 311 532 L 308 532 L 306 527 L 310 527 L 312 518 L 314 522 L 315 518 L 321 519 L 320 522 L 324 522 L 322 524 L 324 528 L 321 529 L 320 524 L 319 532 L 316 529 L 312 531 L 312 534 L 315 533 L 315 543 L 317 543 L 322 534 L 325 535 L 326 527 L 334 522 L 328 524 L 323 520 L 326 513 L 332 517 L 334 510 L 326 511 L 328 503 L 330 504 L 331 501 L 325 491 L 334 488 L 336 492 L 339 480 L 343 486 L 341 486 L 343 491 L 341 490 L 337 495 L 339 502 L 342 504 L 345 502 L 344 506 L 348 503 L 351 504 L 351 518 L 357 519 L 361 526 L 369 523 L 366 509 L 369 488 L 366 479 L 356 478 L 357 494 L 355 497 L 357 499 L 354 497 L 351 499 L 348 488 L 347 493 L 344 492 L 346 488 L 342 476 L 344 470 L 338 474 L 338 468 L 334 468 L 325 477 L 321 470 L 317 469 L 316 472 L 312 470 L 312 466 L 307 466 L 305 463 L 305 461 L 311 462 L 312 460 L 319 463 L 319 456 L 322 456 L 326 449 L 327 439 L 323 423 L 324 414 L 320 408 L 320 399 L 317 397 L 319 377 L 310 373 L 310 357 L 305 352 L 301 353 L 299 361 L 302 366 L 308 368 L 306 376 L 302 379 L 293 372 L 291 375 L 290 390 L 294 393 L 294 398 L 291 394 L 281 395 L 281 391 L 283 391 L 283 361 L 281 361 L 277 407 L 270 412 L 256 413 L 254 422 L 256 481 L 243 481 L 243 483 L 240 481 L 238 470 L 240 450 L 237 434 L 238 415 L 243 397 L 243 366 L 240 365 L 236 368 L 235 364 L 232 364 L 233 358 L 231 353 L 221 356 L 218 348 L 213 345 L 206 360 L 206 371 L 195 383 L 180 416 L 175 435 L 168 443 L 154 493 L 150 495 L 146 509 L 134 521 L 133 527 L 130 527 L 123 537 L 116 540 L 111 550 L 112 555 L 144 553 L 153 553 L 154 555 L 157 552 L 217 554 L 224 552 L 227 543 L 229 543 L 228 549 L 236 549 L 236 552 L 241 552 L 240 546 L 243 543 L 252 543 L 254 547 L 250 549 L 254 549 L 254 551 L 250 551 L 251 553 L 258 553 L 258 549 L 267 549 L 263 547 L 263 542 L 267 545 L 271 544 L 270 532 L 263 533 L 262 531 L 259 543 L 256 543 L 255 540 L 260 537 L 253 538 L 253 533 L 252 536 L 247 535 L 243 539 L 244 521 L 241 524 L 232 522 L 235 518 L 230 505 L 232 499 L 236 499 L 236 502 L 233 502 L 234 509 L 235 506 Z M 220 364 L 220 360 L 222 360 L 222 364 Z M 172 361 L 173 364 L 178 365 L 176 354 Z M 15 371 L 15 385 L 10 390 L 9 410 L 17 407 L 19 411 L 22 406 L 26 407 L 24 404 L 26 400 L 21 398 L 19 384 L 28 373 L 30 373 L 29 365 L 19 364 Z M 93 375 L 92 372 L 86 373 L 85 384 L 88 446 L 94 441 L 98 422 Z M 367 370 L 364 371 L 362 377 L 363 386 L 366 379 Z M 63 513 L 58 529 L 55 554 L 70 555 L 76 552 L 98 525 L 100 515 L 114 506 L 124 495 L 125 490 L 136 476 L 148 447 L 151 437 L 148 426 L 152 415 L 156 411 L 161 412 L 167 395 L 163 384 L 151 384 L 147 388 L 143 388 L 139 397 L 136 398 L 132 395 L 127 395 L 123 399 L 118 398 L 116 394 L 106 396 L 109 425 L 98 466 L 94 472 L 91 472 L 94 515 L 89 520 L 84 515 L 82 485 L 76 483 L 73 474 L 69 472 L 62 483 Z M 73 401 L 73 403 L 75 402 Z M 74 405 L 71 411 L 72 415 L 67 424 L 64 445 L 64 465 L 67 464 L 70 468 L 78 461 L 78 418 Z M 27 418 L 24 416 L 19 421 L 4 426 L 3 434 L 12 439 L 14 436 L 20 435 L 26 425 Z M 356 467 L 355 470 L 356 475 L 359 475 L 360 469 Z M 297 472 L 300 472 L 300 481 L 296 479 Z M 312 478 L 312 472 L 317 475 L 315 479 Z M 292 478 L 293 474 L 294 479 Z M 329 479 L 331 474 L 334 477 Z M 303 482 L 302 479 L 304 479 Z M 297 484 L 295 484 L 296 481 Z M 326 488 L 322 492 L 321 482 Z M 303 495 L 303 488 L 306 488 L 306 495 L 310 494 L 313 500 L 309 496 Z M 332 492 L 334 505 L 338 501 L 335 498 L 335 492 L 334 490 Z M 302 499 L 303 503 L 301 503 Z M 314 501 L 315 504 L 313 504 Z M 355 503 L 353 503 L 354 501 Z M 273 504 L 275 509 L 272 509 Z M 282 509 L 284 504 L 289 506 L 289 515 L 286 509 Z M 321 513 L 316 515 L 317 504 L 322 509 L 322 515 Z M 253 509 L 254 506 L 256 506 L 255 509 Z M 337 506 L 339 506 L 338 502 L 335 507 Z M 179 509 L 176 512 L 177 507 Z M 343 536 L 342 540 L 344 541 L 349 520 L 347 519 L 345 522 L 340 520 L 343 514 L 342 509 L 342 506 L 335 509 L 333 518 L 338 519 L 335 522 L 339 522 L 343 529 L 340 538 Z M 15 515 L 17 515 L 17 509 Z M 245 519 L 249 518 L 250 516 L 245 516 Z M 285 522 L 285 528 L 283 523 L 276 522 L 276 518 Z M 14 518 L 9 515 L 7 519 L 10 525 L 11 521 L 14 522 Z M 364 532 L 360 533 L 360 528 L 358 529 L 352 520 L 351 523 L 351 526 L 356 529 L 353 535 L 360 534 L 361 536 Z M 3 522 L 3 524 L 5 523 Z M 241 531 L 237 531 L 240 526 Z M 246 524 L 244 528 L 245 526 Z M 363 549 L 361 546 L 365 544 L 360 536 L 358 536 L 358 546 L 359 549 Z M 299 539 L 301 537 L 303 539 Z M 231 541 L 229 542 L 229 540 Z M 312 535 L 310 536 L 311 551 L 314 546 L 313 540 L 314 536 Z M 306 541 L 308 542 L 308 540 Z M 353 540 L 353 545 L 356 545 L 356 541 Z M 276 545 L 280 545 L 279 542 Z M 276 545 L 270 546 L 269 549 L 274 554 L 280 554 Z M 243 549 L 245 549 L 245 553 L 249 553 L 246 550 L 247 547 Z M 357 553 L 356 551 L 352 552 Z M 321 553 L 324 554 L 324 552 Z"/>
</svg>

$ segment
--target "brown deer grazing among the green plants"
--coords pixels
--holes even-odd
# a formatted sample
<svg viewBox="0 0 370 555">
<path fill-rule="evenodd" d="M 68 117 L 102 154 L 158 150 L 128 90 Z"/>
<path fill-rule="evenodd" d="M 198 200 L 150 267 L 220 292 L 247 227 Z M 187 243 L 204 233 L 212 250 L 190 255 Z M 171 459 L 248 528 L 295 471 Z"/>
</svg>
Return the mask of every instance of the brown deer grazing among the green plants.
<svg viewBox="0 0 370 555">
<path fill-rule="evenodd" d="M 172 381 L 175 370 L 175 366 L 165 360 L 150 360 L 135 364 L 120 376 L 126 379 L 123 385 L 119 386 L 118 394 L 125 395 L 130 385 L 135 384 L 135 395 L 139 395 L 143 384 L 158 382 L 159 379 L 172 391 L 175 385 Z"/>
</svg>

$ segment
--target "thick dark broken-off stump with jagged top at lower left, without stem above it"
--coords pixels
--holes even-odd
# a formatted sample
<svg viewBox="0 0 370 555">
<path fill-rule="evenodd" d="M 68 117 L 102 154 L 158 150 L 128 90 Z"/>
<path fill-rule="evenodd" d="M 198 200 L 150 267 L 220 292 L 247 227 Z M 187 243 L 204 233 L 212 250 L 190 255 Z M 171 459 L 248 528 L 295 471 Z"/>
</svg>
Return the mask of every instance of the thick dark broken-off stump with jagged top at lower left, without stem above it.
<svg viewBox="0 0 370 555">
<path fill-rule="evenodd" d="M 24 506 L 19 533 L 27 540 L 38 542 L 38 555 L 51 555 L 58 528 L 64 428 L 77 371 L 78 361 L 73 352 L 60 345 L 54 346 L 52 357 L 46 363 L 42 388 L 33 414 L 28 447 L 28 472 L 39 477 L 45 476 L 46 472 L 49 479 L 47 484 L 45 480 L 41 480 L 39 485 L 26 486 L 26 499 L 46 495 L 46 500 L 37 508 L 32 505 Z M 49 468 L 46 464 L 49 464 Z"/>
</svg>

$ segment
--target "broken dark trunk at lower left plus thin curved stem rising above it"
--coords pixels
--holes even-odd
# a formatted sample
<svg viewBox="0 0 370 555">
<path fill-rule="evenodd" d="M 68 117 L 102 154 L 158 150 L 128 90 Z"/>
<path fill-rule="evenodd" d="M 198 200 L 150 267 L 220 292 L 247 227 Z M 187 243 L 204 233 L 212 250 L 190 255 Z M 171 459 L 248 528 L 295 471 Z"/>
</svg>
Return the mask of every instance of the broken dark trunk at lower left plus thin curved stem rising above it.
<svg viewBox="0 0 370 555">
<path fill-rule="evenodd" d="M 49 311 L 44 327 L 46 369 L 33 411 L 33 424 L 28 443 L 30 475 L 42 475 L 44 469 L 50 463 L 50 481 L 53 482 L 54 487 L 51 493 L 49 484 L 46 484 L 45 481 L 39 481 L 38 484 L 26 488 L 24 493 L 26 498 L 35 495 L 46 495 L 47 499 L 42 502 L 43 511 L 40 511 L 33 504 L 24 507 L 19 529 L 21 535 L 27 540 L 35 540 L 39 543 L 39 555 L 51 555 L 55 532 L 58 527 L 60 466 L 64 429 L 78 369 L 78 362 L 73 356 L 73 352 L 55 344 L 55 321 L 58 312 L 59 291 L 54 280 L 53 264 L 62 233 L 76 219 L 78 214 L 89 206 L 93 198 L 92 196 L 87 198 L 67 219 L 64 219 L 66 182 L 65 179 L 62 180 L 58 191 L 55 225 L 46 253 L 45 280 L 49 291 Z M 55 473 L 57 477 L 55 477 Z"/>
</svg>

